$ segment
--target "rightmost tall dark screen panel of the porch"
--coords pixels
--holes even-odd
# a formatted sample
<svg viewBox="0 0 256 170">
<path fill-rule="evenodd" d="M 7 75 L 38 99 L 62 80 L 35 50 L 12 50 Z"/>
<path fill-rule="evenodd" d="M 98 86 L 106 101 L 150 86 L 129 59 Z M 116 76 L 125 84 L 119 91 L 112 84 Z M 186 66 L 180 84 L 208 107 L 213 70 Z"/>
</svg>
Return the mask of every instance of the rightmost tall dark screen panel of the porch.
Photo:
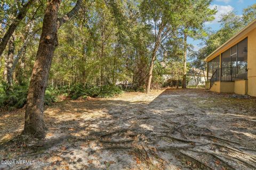
<svg viewBox="0 0 256 170">
<path fill-rule="evenodd" d="M 247 79 L 247 38 L 238 43 L 237 78 Z"/>
</svg>

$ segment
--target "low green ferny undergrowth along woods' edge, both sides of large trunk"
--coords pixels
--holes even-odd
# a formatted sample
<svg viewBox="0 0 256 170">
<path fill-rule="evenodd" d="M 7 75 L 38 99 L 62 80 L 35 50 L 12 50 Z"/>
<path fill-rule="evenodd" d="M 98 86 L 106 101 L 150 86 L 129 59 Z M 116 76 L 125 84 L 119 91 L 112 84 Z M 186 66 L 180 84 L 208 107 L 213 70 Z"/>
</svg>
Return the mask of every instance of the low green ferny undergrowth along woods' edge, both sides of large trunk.
<svg viewBox="0 0 256 170">
<path fill-rule="evenodd" d="M 0 84 L 0 111 L 13 110 L 22 108 L 27 103 L 28 83 L 17 85 L 14 84 L 12 90 L 8 90 L 8 84 L 2 82 Z M 85 86 L 83 84 L 75 84 L 73 86 L 62 86 L 60 88 L 47 88 L 45 90 L 44 104 L 51 105 L 58 101 L 58 96 L 69 96 L 71 99 L 79 97 L 97 97 L 108 98 L 123 92 L 122 87 L 115 85 L 105 86 Z"/>
</svg>

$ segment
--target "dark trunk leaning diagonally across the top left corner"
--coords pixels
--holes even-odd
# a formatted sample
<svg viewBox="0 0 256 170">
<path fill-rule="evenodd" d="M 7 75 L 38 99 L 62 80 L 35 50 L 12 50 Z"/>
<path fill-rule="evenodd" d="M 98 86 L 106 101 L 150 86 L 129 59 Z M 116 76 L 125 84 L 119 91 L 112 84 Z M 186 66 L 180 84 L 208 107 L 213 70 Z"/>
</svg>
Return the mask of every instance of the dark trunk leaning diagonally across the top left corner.
<svg viewBox="0 0 256 170">
<path fill-rule="evenodd" d="M 24 5 L 21 10 L 19 11 L 17 18 L 14 19 L 12 24 L 10 25 L 9 29 L 6 31 L 4 37 L 2 38 L 2 41 L 0 43 L 0 57 L 2 56 L 4 49 L 11 38 L 13 32 L 19 25 L 20 21 L 26 16 L 28 9 L 30 6 L 35 2 L 35 0 L 29 0 L 26 5 Z"/>
</svg>

